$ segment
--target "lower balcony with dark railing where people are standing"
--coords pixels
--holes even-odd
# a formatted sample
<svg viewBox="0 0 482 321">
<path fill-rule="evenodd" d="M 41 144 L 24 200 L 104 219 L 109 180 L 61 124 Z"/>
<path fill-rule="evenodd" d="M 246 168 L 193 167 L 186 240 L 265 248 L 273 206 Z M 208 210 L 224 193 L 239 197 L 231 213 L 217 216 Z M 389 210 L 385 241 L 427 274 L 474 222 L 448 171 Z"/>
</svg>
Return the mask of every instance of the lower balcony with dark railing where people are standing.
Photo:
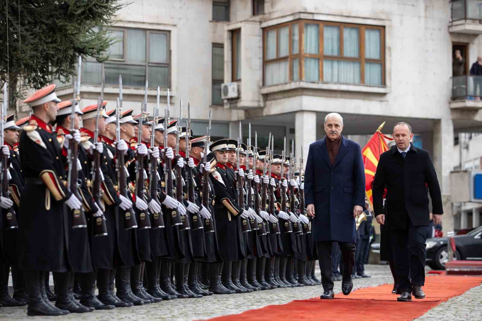
<svg viewBox="0 0 482 321">
<path fill-rule="evenodd" d="M 452 77 L 452 100 L 450 108 L 482 108 L 482 76 Z"/>
</svg>

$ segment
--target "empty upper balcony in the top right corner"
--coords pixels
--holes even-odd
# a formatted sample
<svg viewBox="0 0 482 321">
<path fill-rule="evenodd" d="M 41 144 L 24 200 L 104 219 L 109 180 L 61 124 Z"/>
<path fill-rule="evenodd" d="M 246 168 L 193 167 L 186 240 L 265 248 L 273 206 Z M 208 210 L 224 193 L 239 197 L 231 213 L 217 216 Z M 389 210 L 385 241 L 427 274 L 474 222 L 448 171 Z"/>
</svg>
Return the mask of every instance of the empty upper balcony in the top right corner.
<svg viewBox="0 0 482 321">
<path fill-rule="evenodd" d="M 482 34 L 482 0 L 453 0 L 449 32 Z"/>
</svg>

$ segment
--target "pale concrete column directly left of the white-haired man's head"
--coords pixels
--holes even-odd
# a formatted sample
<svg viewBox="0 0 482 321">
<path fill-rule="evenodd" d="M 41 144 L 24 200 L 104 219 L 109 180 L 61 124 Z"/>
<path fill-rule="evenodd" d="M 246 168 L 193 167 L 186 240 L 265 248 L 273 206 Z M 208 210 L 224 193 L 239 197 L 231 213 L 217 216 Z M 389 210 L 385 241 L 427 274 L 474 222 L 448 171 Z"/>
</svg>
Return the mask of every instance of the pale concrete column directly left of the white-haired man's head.
<svg viewBox="0 0 482 321">
<path fill-rule="evenodd" d="M 297 111 L 295 113 L 295 144 L 296 157 L 301 155 L 303 146 L 303 161 L 306 165 L 309 144 L 316 141 L 316 112 Z"/>
</svg>

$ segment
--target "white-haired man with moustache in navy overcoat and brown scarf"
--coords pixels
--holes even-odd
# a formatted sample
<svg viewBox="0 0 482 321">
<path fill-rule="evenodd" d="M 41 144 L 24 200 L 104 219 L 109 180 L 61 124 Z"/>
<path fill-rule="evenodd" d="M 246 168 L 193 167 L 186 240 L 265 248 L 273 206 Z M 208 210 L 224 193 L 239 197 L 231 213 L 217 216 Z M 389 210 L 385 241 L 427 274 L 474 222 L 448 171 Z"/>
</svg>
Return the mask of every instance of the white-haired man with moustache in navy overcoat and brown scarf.
<svg viewBox="0 0 482 321">
<path fill-rule="evenodd" d="M 334 298 L 331 278 L 332 242 L 340 245 L 343 258 L 342 292 L 353 288 L 355 265 L 355 217 L 365 204 L 365 174 L 360 145 L 341 135 L 343 118 L 325 118 L 326 136 L 309 146 L 305 171 L 305 203 L 313 216 L 312 237 L 320 259 L 322 299 Z"/>
</svg>

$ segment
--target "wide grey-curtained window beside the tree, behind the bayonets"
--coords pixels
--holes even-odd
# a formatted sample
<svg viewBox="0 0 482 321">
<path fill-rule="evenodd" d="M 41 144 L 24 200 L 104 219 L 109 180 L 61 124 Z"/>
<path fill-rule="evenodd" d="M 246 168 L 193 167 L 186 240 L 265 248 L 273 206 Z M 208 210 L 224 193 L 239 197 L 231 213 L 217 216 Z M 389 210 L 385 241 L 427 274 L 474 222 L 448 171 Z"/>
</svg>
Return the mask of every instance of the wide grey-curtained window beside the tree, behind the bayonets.
<svg viewBox="0 0 482 321">
<path fill-rule="evenodd" d="M 119 74 L 122 84 L 144 87 L 169 87 L 170 34 L 168 31 L 144 29 L 112 29 L 111 35 L 118 39 L 108 51 L 109 60 L 104 63 L 105 81 L 117 84 Z M 82 67 L 82 82 L 101 83 L 102 64 L 87 61 Z"/>
</svg>

